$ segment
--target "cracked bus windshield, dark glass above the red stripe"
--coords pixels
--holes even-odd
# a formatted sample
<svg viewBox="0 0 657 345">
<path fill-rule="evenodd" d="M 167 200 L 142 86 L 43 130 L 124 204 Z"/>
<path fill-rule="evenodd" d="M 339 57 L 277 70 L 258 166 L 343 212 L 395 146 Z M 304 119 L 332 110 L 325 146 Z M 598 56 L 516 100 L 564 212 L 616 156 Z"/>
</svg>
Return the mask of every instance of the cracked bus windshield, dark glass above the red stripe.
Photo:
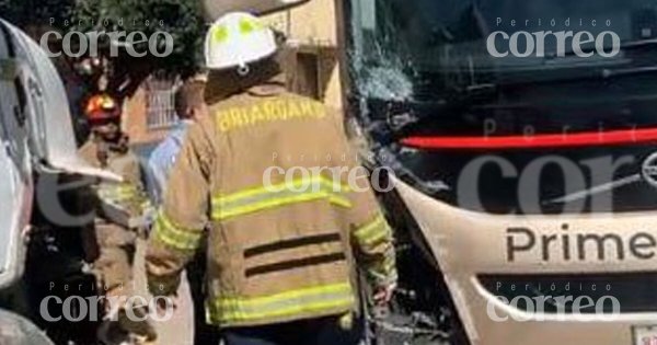
<svg viewBox="0 0 657 345">
<path fill-rule="evenodd" d="M 647 112 L 657 90 L 655 1 L 347 2 L 351 93 L 449 115 L 430 131 L 657 124 Z"/>
</svg>

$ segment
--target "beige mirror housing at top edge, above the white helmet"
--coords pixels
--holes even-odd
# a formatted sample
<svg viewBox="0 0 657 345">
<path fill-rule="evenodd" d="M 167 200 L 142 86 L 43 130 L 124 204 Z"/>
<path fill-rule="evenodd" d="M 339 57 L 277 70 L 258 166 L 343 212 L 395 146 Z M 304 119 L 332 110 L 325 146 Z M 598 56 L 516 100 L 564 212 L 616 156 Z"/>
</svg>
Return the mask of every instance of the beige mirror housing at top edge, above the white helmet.
<svg viewBox="0 0 657 345">
<path fill-rule="evenodd" d="M 284 11 L 310 0 L 203 0 L 207 21 L 215 21 L 227 12 L 243 11 L 254 15 Z"/>
</svg>

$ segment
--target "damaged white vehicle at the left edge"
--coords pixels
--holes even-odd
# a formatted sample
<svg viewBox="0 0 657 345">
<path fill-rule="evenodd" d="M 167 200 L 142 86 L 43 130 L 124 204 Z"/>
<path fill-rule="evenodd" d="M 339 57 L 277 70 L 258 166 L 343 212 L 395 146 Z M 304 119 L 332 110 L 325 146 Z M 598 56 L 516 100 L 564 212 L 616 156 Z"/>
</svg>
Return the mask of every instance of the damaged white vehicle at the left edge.
<svg viewBox="0 0 657 345">
<path fill-rule="evenodd" d="M 0 143 L 0 297 L 4 297 L 24 274 L 37 194 L 34 177 L 45 172 L 120 177 L 78 158 L 68 101 L 55 67 L 32 38 L 1 19 Z M 0 344 L 53 344 L 31 321 L 11 311 L 0 309 Z"/>
</svg>

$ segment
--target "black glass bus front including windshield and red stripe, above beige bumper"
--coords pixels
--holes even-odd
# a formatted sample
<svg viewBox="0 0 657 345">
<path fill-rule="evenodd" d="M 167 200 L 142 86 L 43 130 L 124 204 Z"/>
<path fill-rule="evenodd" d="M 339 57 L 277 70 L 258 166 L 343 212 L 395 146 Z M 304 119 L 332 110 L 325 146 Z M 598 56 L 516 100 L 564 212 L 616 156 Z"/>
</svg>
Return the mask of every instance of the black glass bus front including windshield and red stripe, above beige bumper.
<svg viewBox="0 0 657 345">
<path fill-rule="evenodd" d="M 570 195 L 598 211 L 657 208 L 641 179 L 613 184 L 636 176 L 657 141 L 656 1 L 344 3 L 349 106 L 397 176 L 474 210 L 560 212 Z M 563 158 L 612 202 L 593 205 L 552 161 L 539 206 L 521 209 L 509 193 L 519 179 L 496 164 L 482 168 L 476 197 L 458 195 L 463 171 L 491 157 L 519 174 Z M 621 158 L 602 177 L 586 165 Z"/>
</svg>

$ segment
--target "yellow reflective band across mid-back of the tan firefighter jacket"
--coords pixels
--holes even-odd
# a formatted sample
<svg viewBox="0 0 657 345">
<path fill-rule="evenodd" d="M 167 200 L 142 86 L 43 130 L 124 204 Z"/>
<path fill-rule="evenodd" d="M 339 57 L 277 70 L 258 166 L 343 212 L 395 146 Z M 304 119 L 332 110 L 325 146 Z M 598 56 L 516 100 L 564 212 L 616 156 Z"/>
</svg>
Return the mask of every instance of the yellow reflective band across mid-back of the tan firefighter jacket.
<svg viewBox="0 0 657 345">
<path fill-rule="evenodd" d="M 319 199 L 341 207 L 351 207 L 343 194 L 348 187 L 325 177 L 298 179 L 268 187 L 257 187 L 212 199 L 212 218 L 226 220 L 251 212 Z"/>
</svg>

